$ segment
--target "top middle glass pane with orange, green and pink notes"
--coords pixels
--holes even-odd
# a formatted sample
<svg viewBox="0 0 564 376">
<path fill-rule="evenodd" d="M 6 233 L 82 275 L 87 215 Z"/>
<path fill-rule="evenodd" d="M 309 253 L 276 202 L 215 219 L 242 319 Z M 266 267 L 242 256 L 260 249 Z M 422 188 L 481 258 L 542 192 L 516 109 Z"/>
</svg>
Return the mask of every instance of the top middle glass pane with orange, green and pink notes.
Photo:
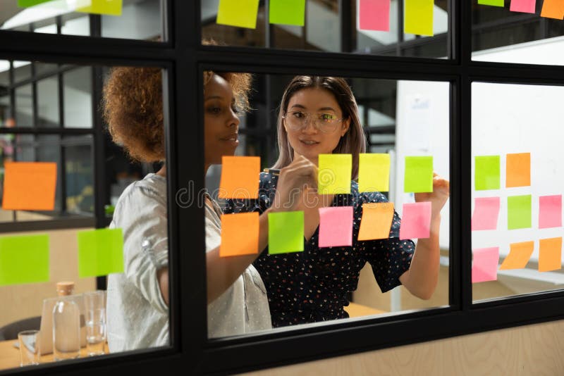
<svg viewBox="0 0 564 376">
<path fill-rule="evenodd" d="M 389 10 L 384 13 L 369 13 L 364 9 L 368 1 L 350 1 L 347 12 L 341 8 L 338 0 L 305 1 L 304 25 L 293 21 L 269 23 L 270 13 L 267 4 L 259 3 L 255 27 L 225 25 L 237 24 L 235 17 L 243 15 L 245 9 L 226 11 L 226 20 L 216 22 L 219 13 L 219 0 L 201 1 L 202 36 L 214 39 L 221 45 L 255 46 L 276 49 L 295 49 L 309 51 L 348 52 L 353 54 L 374 54 L 391 56 L 415 56 L 425 58 L 448 57 L 448 1 L 440 0 L 429 4 L 427 18 L 417 13 L 417 20 L 427 20 L 426 30 L 419 30 L 427 35 L 413 35 L 398 30 L 403 22 L 406 9 L 405 0 L 391 0 Z M 226 4 L 229 1 L 226 2 Z M 349 2 L 346 2 L 349 3 Z M 346 4 L 345 3 L 345 4 Z M 235 4 L 235 2 L 233 2 Z M 362 12 L 361 12 L 362 11 Z M 279 15 L 298 13 L 296 9 L 274 11 Z M 377 11 L 372 11 L 377 12 Z M 367 26 L 360 23 L 360 14 L 378 14 L 374 17 L 378 25 Z M 346 15 L 350 14 L 350 18 Z M 222 15 L 223 17 L 223 15 Z M 388 18 L 388 22 L 384 22 Z M 251 18 L 255 20 L 254 17 Z M 278 21 L 276 21 L 278 22 Z M 383 26 L 386 25 L 386 26 Z M 407 30 L 411 30 L 408 28 Z"/>
</svg>

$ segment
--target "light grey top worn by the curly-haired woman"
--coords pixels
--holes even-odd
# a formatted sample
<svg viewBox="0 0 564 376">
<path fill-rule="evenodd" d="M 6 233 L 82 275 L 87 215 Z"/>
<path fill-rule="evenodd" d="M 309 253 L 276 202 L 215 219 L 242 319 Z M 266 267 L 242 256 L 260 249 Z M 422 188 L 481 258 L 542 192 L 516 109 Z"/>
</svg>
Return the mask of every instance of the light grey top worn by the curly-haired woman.
<svg viewBox="0 0 564 376">
<path fill-rule="evenodd" d="M 206 249 L 221 243 L 221 210 L 206 205 Z M 108 277 L 107 325 L 111 352 L 168 346 L 168 306 L 157 270 L 168 265 L 166 178 L 148 174 L 130 184 L 116 204 L 110 228 L 123 230 L 124 272 Z M 252 265 L 208 305 L 209 337 L 271 327 L 264 284 Z"/>
</svg>

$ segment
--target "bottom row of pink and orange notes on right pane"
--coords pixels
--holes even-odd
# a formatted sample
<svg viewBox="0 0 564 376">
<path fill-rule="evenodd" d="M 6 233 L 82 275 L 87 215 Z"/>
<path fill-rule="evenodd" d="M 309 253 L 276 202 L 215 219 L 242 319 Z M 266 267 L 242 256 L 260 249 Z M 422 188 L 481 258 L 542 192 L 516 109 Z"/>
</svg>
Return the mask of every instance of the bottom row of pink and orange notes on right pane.
<svg viewBox="0 0 564 376">
<path fill-rule="evenodd" d="M 510 244 L 510 251 L 503 263 L 499 263 L 499 247 L 472 251 L 472 283 L 497 280 L 498 270 L 525 268 L 534 251 L 534 242 Z M 562 268 L 562 237 L 539 240 L 539 272 Z"/>
</svg>

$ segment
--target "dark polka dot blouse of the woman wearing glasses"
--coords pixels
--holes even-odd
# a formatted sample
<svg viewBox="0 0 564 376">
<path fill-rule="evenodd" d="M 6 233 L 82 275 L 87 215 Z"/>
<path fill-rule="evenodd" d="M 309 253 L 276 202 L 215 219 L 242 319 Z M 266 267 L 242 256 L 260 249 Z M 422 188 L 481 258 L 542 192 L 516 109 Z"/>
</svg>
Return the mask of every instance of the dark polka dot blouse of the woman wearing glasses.
<svg viewBox="0 0 564 376">
<path fill-rule="evenodd" d="M 264 212 L 274 199 L 278 176 L 260 174 L 259 198 L 228 200 L 225 213 Z M 400 218 L 394 213 L 388 239 L 357 241 L 362 203 L 386 202 L 379 192 L 359 193 L 351 182 L 350 194 L 337 194 L 332 206 L 353 206 L 353 246 L 319 248 L 319 226 L 304 251 L 269 255 L 268 247 L 257 258 L 269 298 L 273 327 L 348 318 L 347 294 L 357 289 L 360 270 L 369 262 L 382 292 L 401 284 L 399 277 L 410 268 L 415 244 L 400 240 Z"/>
</svg>

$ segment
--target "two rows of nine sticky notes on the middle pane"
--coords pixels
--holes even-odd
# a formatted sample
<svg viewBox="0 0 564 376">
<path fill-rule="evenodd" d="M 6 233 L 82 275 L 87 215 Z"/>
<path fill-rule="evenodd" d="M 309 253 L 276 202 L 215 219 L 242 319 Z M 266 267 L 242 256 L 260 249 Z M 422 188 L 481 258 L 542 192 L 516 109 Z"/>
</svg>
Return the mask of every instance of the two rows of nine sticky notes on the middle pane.
<svg viewBox="0 0 564 376">
<path fill-rule="evenodd" d="M 259 157 L 223 157 L 219 197 L 223 199 L 256 199 L 259 190 Z M 353 156 L 320 154 L 317 176 L 319 194 L 350 194 Z M 433 158 L 405 158 L 405 187 L 410 192 L 432 192 Z M 389 154 L 361 153 L 359 156 L 359 191 L 388 192 L 390 184 Z M 394 216 L 393 203 L 364 203 L 357 240 L 390 237 Z M 285 211 L 269 213 L 269 253 L 300 252 L 304 249 L 304 213 Z M 319 208 L 319 246 L 353 244 L 353 207 Z M 406 203 L 400 239 L 429 237 L 431 203 Z M 259 215 L 226 214 L 221 218 L 220 256 L 240 256 L 259 252 Z M 243 230 L 244 229 L 244 230 Z"/>
</svg>

